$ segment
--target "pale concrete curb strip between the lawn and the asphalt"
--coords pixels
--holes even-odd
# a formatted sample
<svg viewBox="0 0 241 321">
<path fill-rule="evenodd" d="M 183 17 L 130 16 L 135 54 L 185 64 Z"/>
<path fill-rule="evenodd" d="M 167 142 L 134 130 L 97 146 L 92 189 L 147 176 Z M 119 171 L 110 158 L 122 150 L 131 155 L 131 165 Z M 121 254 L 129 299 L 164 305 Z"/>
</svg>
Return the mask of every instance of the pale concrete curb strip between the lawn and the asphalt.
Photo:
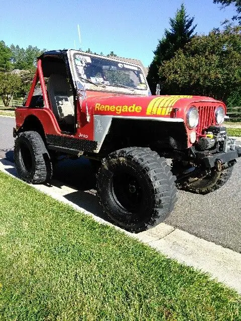
<svg viewBox="0 0 241 321">
<path fill-rule="evenodd" d="M 14 163 L 11 163 L 6 159 L 0 158 L 0 170 L 15 178 L 17 177 Z M 92 218 L 99 223 L 114 226 L 93 213 L 84 210 L 81 208 L 81 205 L 77 205 L 76 202 L 73 203 L 67 200 L 65 198 L 66 195 L 78 191 L 69 186 L 63 186 L 62 184 L 59 184 L 60 182 L 55 184 L 55 182 L 57 183 L 57 181 L 52 182 L 52 186 L 32 186 L 56 200 L 69 204 L 87 215 L 91 215 Z M 54 184 L 56 186 L 54 186 Z M 94 194 L 93 190 L 84 192 L 92 195 Z M 176 259 L 178 262 L 192 266 L 202 272 L 208 272 L 211 278 L 215 278 L 217 281 L 222 282 L 241 293 L 241 254 L 193 236 L 165 223 L 160 223 L 153 229 L 139 234 L 132 234 L 119 227 L 114 227 L 127 235 L 148 244 L 169 258 Z"/>
</svg>

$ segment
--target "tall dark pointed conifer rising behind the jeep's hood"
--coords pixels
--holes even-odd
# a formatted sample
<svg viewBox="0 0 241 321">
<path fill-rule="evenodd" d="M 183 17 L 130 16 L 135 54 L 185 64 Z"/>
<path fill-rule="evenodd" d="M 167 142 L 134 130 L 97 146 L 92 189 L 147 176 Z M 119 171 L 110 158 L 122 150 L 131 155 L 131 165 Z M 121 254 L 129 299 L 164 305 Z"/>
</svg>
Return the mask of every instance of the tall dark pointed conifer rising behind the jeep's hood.
<svg viewBox="0 0 241 321">
<path fill-rule="evenodd" d="M 170 18 L 170 30 L 165 29 L 164 37 L 159 40 L 154 58 L 149 67 L 147 76 L 148 84 L 152 93 L 156 91 L 157 83 L 162 83 L 162 76 L 159 74 L 159 68 L 164 61 L 174 57 L 178 49 L 183 49 L 184 46 L 194 36 L 196 25 L 193 26 L 194 17 L 189 18 L 186 13 L 184 4 L 177 10 L 175 18 Z"/>
</svg>

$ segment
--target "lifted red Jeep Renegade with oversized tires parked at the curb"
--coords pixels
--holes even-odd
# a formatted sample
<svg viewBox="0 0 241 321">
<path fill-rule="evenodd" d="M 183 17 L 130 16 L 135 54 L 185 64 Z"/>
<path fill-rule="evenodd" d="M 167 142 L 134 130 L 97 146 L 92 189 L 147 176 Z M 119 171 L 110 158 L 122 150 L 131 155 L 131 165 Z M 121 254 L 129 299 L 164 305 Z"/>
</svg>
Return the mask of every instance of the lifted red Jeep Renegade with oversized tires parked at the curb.
<svg viewBox="0 0 241 321">
<path fill-rule="evenodd" d="M 220 125 L 225 112 L 209 97 L 151 96 L 138 65 L 48 51 L 16 109 L 16 169 L 24 181 L 43 184 L 59 155 L 88 157 L 99 164 L 104 212 L 143 231 L 173 210 L 177 188 L 207 194 L 230 177 L 241 147 Z"/>
</svg>

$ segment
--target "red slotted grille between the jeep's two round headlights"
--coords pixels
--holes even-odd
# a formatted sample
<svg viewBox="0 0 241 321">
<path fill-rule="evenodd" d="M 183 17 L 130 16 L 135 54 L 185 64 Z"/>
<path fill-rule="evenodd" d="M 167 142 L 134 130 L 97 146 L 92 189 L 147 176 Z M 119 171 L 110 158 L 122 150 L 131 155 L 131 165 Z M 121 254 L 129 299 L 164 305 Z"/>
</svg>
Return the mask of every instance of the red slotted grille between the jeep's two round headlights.
<svg viewBox="0 0 241 321">
<path fill-rule="evenodd" d="M 199 120 L 196 132 L 197 134 L 203 134 L 203 130 L 207 129 L 211 125 L 215 125 L 214 110 L 215 106 L 199 106 Z"/>
</svg>

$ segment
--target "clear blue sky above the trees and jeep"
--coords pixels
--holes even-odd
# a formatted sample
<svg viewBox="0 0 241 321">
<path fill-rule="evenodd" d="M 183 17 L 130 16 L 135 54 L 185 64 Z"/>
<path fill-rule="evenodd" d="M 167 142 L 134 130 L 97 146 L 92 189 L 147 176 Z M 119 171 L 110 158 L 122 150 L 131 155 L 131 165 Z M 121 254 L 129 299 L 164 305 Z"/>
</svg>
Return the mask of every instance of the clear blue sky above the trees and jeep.
<svg viewBox="0 0 241 321">
<path fill-rule="evenodd" d="M 0 41 L 40 49 L 90 48 L 140 59 L 148 67 L 158 40 L 184 2 L 198 34 L 220 27 L 234 6 L 212 0 L 0 0 Z M 80 26 L 80 40 L 77 25 Z"/>
</svg>

